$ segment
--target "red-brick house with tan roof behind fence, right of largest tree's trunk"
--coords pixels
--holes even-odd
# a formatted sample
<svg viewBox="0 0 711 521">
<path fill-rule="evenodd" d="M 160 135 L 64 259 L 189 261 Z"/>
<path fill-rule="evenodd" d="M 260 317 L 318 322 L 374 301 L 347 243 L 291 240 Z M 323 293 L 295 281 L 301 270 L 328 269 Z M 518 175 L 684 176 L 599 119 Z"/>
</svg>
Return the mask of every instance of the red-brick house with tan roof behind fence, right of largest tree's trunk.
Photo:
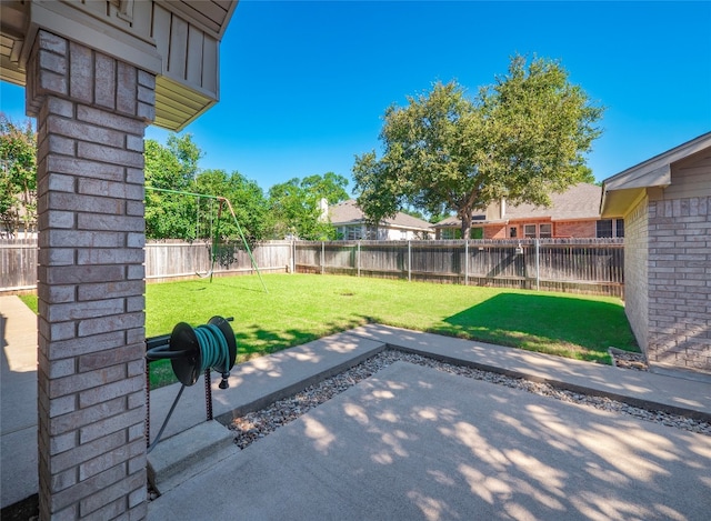
<svg viewBox="0 0 711 521">
<path fill-rule="evenodd" d="M 551 194 L 550 207 L 490 204 L 485 213 L 472 216 L 471 239 L 550 239 L 624 237 L 621 219 L 600 219 L 602 189 L 578 183 Z M 434 226 L 438 239 L 460 239 L 461 220 L 448 218 Z"/>
</svg>

